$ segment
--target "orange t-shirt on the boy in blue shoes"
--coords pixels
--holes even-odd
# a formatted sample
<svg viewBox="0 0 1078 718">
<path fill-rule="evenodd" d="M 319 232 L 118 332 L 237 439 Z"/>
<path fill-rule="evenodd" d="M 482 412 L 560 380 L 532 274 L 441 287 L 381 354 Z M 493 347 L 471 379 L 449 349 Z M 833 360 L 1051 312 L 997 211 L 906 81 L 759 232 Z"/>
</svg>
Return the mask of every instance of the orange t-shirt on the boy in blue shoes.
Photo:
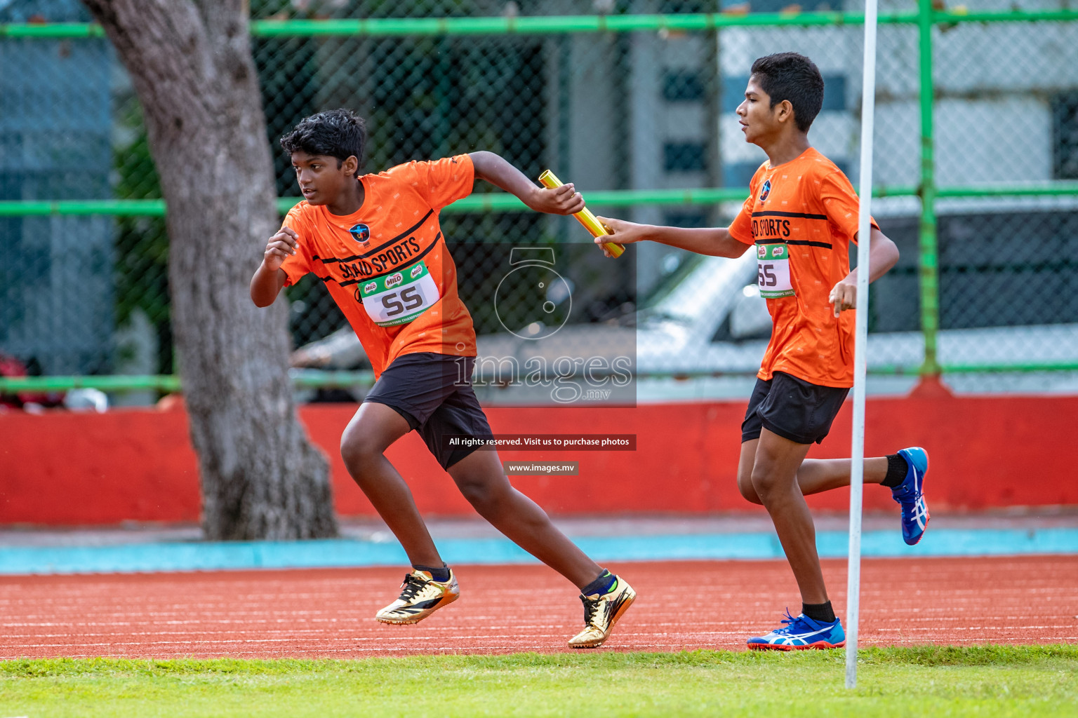
<svg viewBox="0 0 1078 718">
<path fill-rule="evenodd" d="M 813 147 L 752 175 L 730 235 L 756 245 L 771 312 L 760 379 L 783 371 L 821 386 L 854 385 L 854 312 L 835 319 L 828 295 L 849 273 L 858 207 L 846 175 Z"/>
</svg>

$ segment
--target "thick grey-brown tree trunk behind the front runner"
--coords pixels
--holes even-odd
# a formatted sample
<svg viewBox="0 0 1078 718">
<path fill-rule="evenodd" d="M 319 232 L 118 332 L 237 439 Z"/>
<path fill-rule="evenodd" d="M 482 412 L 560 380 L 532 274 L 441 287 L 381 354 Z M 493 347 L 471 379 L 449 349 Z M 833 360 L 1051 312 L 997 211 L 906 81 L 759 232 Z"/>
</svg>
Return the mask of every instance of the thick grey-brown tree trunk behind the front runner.
<svg viewBox="0 0 1078 718">
<path fill-rule="evenodd" d="M 169 291 L 210 539 L 336 534 L 288 380 L 287 302 L 251 273 L 276 231 L 243 0 L 84 0 L 130 73 L 168 202 Z"/>
</svg>

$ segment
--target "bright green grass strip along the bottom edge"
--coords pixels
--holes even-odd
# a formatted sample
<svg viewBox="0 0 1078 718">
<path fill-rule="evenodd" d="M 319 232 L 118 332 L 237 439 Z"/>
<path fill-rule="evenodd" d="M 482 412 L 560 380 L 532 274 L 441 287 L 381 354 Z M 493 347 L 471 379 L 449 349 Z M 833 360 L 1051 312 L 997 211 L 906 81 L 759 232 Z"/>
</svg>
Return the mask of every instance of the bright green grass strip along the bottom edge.
<svg viewBox="0 0 1078 718">
<path fill-rule="evenodd" d="M 8 716 L 1078 715 L 1078 646 L 0 662 Z"/>
</svg>

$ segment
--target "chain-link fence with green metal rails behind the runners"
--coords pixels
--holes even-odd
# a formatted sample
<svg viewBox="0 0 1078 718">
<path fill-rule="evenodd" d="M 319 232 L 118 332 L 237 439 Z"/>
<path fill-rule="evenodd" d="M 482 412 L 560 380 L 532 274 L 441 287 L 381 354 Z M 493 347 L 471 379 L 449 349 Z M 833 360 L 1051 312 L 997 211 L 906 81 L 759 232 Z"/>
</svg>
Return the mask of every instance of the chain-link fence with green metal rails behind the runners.
<svg viewBox="0 0 1078 718">
<path fill-rule="evenodd" d="M 902 258 L 873 285 L 870 371 L 1054 370 L 1029 377 L 1069 385 L 1078 12 L 1067 0 L 987 0 L 972 16 L 939 4 L 881 2 L 873 207 Z M 490 150 L 533 178 L 554 169 L 599 213 L 721 226 L 765 158 L 734 113 L 748 68 L 780 51 L 820 68 L 824 109 L 810 137 L 856 186 L 862 30 L 841 12 L 860 8 L 252 0 L 278 195 L 299 197 L 277 138 L 305 115 L 349 107 L 368 118 L 367 171 Z M 138 102 L 99 33 L 45 30 L 88 19 L 75 0 L 0 0 L 0 352 L 45 376 L 170 375 L 163 203 L 115 201 L 161 197 Z M 27 23 L 46 25 L 16 37 Z M 83 202 L 71 214 L 45 200 Z M 751 292 L 751 257 L 644 244 L 630 266 L 583 247 L 590 237 L 571 219 L 470 202 L 448 208 L 442 225 L 461 243 L 461 296 L 480 335 L 503 329 L 482 299 L 505 274 L 498 244 L 579 242 L 567 322 L 635 327 L 641 375 L 758 365 L 770 323 Z M 363 367 L 321 283 L 305 280 L 288 298 L 296 347 L 343 329 L 321 364 Z"/>
</svg>

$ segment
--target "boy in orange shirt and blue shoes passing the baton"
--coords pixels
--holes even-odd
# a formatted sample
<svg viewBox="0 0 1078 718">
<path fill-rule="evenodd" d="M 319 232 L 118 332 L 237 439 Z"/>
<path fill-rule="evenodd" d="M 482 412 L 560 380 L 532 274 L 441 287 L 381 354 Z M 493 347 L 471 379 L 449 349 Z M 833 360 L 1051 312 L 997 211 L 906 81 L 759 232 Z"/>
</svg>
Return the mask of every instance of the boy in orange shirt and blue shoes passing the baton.
<svg viewBox="0 0 1078 718">
<path fill-rule="evenodd" d="M 816 553 L 804 495 L 849 484 L 849 460 L 805 459 L 831 428 L 854 376 L 858 199 L 845 174 L 808 143 L 824 102 L 824 79 L 807 57 L 780 53 L 752 64 L 737 108 L 745 140 L 768 153 L 749 197 L 728 228 L 681 229 L 599 217 L 621 243 L 651 240 L 700 254 L 740 257 L 756 248 L 758 286 L 772 318 L 771 342 L 742 424 L 737 488 L 771 515 L 801 589 L 799 616 L 748 639 L 749 648 L 838 648 L 835 618 Z M 608 239 L 608 238 L 607 238 Z M 898 262 L 895 243 L 872 223 L 870 281 Z M 598 243 L 598 240 L 596 240 Z M 844 313 L 845 312 L 845 313 Z M 902 537 L 921 540 L 928 523 L 924 449 L 865 461 L 865 481 L 889 487 L 902 507 Z"/>
</svg>

